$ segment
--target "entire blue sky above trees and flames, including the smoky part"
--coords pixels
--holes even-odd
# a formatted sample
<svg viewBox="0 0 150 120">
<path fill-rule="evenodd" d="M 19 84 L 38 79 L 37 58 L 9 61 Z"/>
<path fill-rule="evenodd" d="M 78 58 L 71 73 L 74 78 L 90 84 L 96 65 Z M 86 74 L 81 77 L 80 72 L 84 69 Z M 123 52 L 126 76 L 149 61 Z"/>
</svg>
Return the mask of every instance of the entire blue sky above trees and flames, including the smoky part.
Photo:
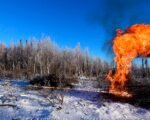
<svg viewBox="0 0 150 120">
<path fill-rule="evenodd" d="M 137 23 L 150 24 L 150 0 L 0 0 L 0 41 L 6 45 L 45 35 L 61 48 L 80 43 L 108 59 L 115 29 Z"/>
</svg>

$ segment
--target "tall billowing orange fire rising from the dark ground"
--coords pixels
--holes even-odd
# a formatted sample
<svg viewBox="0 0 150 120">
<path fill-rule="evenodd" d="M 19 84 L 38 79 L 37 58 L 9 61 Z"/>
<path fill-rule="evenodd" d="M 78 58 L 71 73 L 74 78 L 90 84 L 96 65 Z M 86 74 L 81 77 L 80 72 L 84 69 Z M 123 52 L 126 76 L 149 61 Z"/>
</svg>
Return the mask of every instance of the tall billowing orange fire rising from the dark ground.
<svg viewBox="0 0 150 120">
<path fill-rule="evenodd" d="M 113 40 L 116 73 L 107 75 L 111 82 L 109 92 L 119 96 L 132 96 L 128 93 L 126 82 L 131 68 L 131 61 L 136 57 L 150 57 L 150 25 L 135 24 L 126 31 L 117 30 Z"/>
</svg>

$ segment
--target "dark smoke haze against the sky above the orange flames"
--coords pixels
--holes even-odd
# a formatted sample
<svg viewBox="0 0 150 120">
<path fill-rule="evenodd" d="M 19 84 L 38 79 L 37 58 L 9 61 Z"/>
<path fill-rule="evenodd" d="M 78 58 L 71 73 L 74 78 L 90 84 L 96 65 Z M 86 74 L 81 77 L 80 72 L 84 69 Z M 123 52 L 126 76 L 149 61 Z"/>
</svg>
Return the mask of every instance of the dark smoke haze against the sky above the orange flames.
<svg viewBox="0 0 150 120">
<path fill-rule="evenodd" d="M 94 20 L 105 30 L 106 44 L 111 47 L 116 29 L 126 29 L 133 24 L 150 24 L 150 0 L 100 0 Z M 111 51 L 109 47 L 109 51 Z"/>
</svg>

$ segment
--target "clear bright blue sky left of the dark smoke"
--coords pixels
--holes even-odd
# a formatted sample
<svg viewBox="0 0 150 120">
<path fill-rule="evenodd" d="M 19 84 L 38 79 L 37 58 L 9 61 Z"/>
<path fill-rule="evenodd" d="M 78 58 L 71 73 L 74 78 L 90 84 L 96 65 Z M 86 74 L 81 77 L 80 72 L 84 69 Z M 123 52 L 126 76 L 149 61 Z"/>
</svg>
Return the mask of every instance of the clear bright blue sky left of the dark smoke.
<svg viewBox="0 0 150 120">
<path fill-rule="evenodd" d="M 0 40 L 50 36 L 58 46 L 80 43 L 93 56 L 102 56 L 104 30 L 91 20 L 99 0 L 0 0 Z"/>
</svg>

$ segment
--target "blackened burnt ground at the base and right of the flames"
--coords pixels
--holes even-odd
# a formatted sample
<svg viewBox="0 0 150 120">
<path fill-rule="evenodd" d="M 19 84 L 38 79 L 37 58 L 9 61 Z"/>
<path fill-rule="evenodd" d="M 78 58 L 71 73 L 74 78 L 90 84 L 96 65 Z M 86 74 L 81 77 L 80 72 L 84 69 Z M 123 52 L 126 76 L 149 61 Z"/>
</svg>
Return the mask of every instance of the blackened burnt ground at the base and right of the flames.
<svg viewBox="0 0 150 120">
<path fill-rule="evenodd" d="M 104 99 L 114 102 L 129 103 L 136 107 L 150 110 L 150 84 L 131 83 L 128 91 L 132 93 L 132 97 L 119 97 L 108 92 L 102 93 Z"/>
</svg>

